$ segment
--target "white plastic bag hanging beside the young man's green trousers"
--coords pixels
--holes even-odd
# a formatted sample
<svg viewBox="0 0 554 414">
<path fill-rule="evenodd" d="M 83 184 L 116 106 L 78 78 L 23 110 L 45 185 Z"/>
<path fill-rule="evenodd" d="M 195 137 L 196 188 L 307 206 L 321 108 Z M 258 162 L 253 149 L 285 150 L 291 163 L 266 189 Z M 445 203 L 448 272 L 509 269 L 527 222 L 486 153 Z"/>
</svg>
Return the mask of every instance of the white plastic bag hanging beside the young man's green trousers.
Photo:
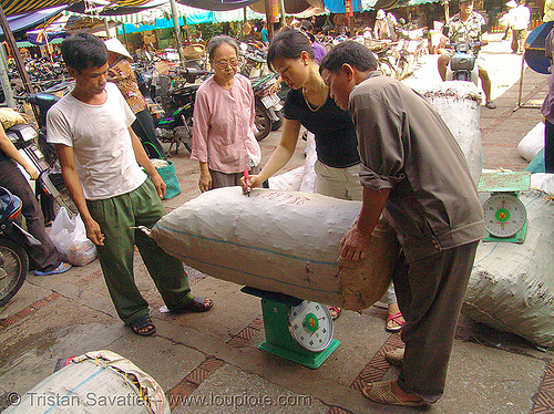
<svg viewBox="0 0 554 414">
<path fill-rule="evenodd" d="M 96 246 L 86 238 L 81 215 L 70 218 L 65 207 L 55 215 L 49 236 L 63 260 L 71 265 L 85 266 L 98 256 Z"/>
</svg>

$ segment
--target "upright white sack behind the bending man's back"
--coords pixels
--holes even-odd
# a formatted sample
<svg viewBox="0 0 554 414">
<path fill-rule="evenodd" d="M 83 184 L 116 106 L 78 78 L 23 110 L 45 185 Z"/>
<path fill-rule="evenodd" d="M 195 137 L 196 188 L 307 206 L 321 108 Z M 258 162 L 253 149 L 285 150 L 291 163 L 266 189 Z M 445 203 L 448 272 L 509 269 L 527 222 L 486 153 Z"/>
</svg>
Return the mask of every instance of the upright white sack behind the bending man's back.
<svg viewBox="0 0 554 414">
<path fill-rule="evenodd" d="M 479 128 L 478 87 L 471 82 L 447 81 L 433 84 L 411 84 L 425 96 L 442 116 L 462 148 L 475 185 L 481 177 L 481 130 Z"/>
</svg>

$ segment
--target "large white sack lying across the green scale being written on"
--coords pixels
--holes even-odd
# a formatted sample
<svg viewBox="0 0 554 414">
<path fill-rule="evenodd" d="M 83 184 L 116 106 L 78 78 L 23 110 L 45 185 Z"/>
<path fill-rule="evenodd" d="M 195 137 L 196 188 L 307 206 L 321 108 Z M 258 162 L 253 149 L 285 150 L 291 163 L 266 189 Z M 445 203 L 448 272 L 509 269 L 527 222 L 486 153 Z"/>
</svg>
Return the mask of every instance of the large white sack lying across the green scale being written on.
<svg viewBox="0 0 554 414">
<path fill-rule="evenodd" d="M 173 210 L 150 234 L 170 255 L 206 275 L 341 307 L 340 240 L 360 207 L 319 194 L 255 188 L 247 197 L 240 187 L 226 187 Z M 373 241 L 369 269 L 376 278 L 390 278 L 396 236 L 376 231 Z M 375 296 L 377 301 L 382 291 Z"/>
</svg>

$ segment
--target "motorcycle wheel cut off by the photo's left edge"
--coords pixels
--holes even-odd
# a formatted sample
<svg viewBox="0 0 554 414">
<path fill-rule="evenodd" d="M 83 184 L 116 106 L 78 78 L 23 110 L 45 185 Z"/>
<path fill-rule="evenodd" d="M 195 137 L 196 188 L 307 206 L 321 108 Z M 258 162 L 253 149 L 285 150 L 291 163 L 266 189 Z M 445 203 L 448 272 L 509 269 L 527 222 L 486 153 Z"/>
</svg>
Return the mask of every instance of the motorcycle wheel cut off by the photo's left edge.
<svg viewBox="0 0 554 414">
<path fill-rule="evenodd" d="M 29 271 L 29 257 L 23 246 L 0 238 L 0 307 L 23 286 Z"/>
</svg>

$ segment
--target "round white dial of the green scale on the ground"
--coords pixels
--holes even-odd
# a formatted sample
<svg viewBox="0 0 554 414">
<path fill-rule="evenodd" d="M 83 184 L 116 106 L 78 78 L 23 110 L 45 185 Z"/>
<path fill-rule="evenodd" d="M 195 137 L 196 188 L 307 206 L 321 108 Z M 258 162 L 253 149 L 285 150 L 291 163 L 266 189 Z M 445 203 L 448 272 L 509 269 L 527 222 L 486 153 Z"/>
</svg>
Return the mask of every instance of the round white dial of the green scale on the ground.
<svg viewBox="0 0 554 414">
<path fill-rule="evenodd" d="M 305 300 L 290 308 L 290 335 L 308 351 L 324 351 L 332 340 L 332 319 L 326 306 Z"/>
</svg>

